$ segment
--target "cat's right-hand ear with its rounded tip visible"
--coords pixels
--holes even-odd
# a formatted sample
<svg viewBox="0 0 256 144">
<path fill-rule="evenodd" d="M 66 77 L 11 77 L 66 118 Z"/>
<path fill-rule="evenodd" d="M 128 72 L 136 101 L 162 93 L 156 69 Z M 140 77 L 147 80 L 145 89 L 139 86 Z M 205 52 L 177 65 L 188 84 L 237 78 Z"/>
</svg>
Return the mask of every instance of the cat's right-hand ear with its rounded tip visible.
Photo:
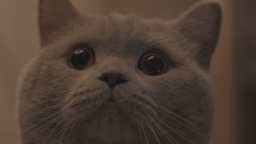
<svg viewBox="0 0 256 144">
<path fill-rule="evenodd" d="M 179 16 L 176 29 L 192 43 L 185 47 L 203 69 L 208 69 L 217 46 L 222 23 L 222 5 L 217 1 L 202 1 Z"/>
</svg>

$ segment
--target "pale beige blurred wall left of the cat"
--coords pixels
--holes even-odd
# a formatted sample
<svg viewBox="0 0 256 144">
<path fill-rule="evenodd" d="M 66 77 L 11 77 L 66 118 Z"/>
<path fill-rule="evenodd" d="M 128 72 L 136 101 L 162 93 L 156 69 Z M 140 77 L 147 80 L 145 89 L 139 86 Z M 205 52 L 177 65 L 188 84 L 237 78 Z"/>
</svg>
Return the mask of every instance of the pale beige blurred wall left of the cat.
<svg viewBox="0 0 256 144">
<path fill-rule="evenodd" d="M 38 49 L 36 1 L 0 4 L 0 143 L 18 143 L 15 87 L 24 64 Z"/>
</svg>

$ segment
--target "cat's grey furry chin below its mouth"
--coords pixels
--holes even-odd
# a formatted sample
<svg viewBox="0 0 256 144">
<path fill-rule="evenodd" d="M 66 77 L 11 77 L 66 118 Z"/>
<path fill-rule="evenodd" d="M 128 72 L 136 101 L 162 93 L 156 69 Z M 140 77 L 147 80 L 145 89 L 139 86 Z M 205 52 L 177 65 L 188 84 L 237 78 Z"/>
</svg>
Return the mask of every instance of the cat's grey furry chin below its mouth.
<svg viewBox="0 0 256 144">
<path fill-rule="evenodd" d="M 117 143 L 124 139 L 131 141 L 138 131 L 137 125 L 130 121 L 114 100 L 106 101 L 90 119 L 80 119 L 77 128 L 81 137 L 109 143 Z"/>
</svg>

